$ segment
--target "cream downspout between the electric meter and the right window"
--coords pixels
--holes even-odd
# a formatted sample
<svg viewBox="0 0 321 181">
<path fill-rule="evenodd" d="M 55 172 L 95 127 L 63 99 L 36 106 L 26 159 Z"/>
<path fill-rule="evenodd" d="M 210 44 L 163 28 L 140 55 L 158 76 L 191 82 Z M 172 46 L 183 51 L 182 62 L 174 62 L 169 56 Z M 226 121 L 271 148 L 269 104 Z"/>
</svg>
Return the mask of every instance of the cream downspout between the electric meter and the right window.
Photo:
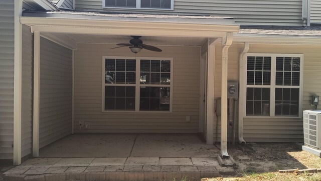
<svg viewBox="0 0 321 181">
<path fill-rule="evenodd" d="M 250 48 L 250 43 L 245 42 L 244 43 L 244 47 L 243 47 L 243 51 L 240 54 L 240 66 L 239 66 L 239 84 L 240 84 L 240 88 L 239 88 L 239 122 L 238 122 L 238 134 L 239 134 L 239 143 L 240 144 L 246 144 L 244 138 L 243 138 L 243 112 L 244 109 L 243 107 L 245 107 L 245 105 L 243 105 L 244 102 L 244 90 L 245 90 L 245 65 L 246 65 L 246 53 L 248 52 Z"/>
</svg>

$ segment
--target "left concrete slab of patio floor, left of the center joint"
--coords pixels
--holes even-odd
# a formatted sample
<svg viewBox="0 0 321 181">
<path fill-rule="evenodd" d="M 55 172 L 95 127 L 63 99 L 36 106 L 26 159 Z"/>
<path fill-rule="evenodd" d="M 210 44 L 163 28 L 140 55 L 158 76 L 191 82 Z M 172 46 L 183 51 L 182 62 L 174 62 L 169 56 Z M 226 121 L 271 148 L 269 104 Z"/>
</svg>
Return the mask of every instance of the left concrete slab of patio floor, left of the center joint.
<svg viewBox="0 0 321 181">
<path fill-rule="evenodd" d="M 71 134 L 39 151 L 39 157 L 128 157 L 136 134 Z"/>
</svg>

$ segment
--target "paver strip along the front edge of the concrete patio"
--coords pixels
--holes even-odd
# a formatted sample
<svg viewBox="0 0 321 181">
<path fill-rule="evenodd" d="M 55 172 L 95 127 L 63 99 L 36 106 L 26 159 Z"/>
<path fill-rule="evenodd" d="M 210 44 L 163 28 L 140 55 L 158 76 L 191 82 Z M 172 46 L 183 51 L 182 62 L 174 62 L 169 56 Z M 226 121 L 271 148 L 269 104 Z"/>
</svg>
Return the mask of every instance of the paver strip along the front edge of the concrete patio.
<svg viewBox="0 0 321 181">
<path fill-rule="evenodd" d="M 233 173 L 212 157 L 33 158 L 4 173 L 8 180 L 173 180 Z"/>
</svg>

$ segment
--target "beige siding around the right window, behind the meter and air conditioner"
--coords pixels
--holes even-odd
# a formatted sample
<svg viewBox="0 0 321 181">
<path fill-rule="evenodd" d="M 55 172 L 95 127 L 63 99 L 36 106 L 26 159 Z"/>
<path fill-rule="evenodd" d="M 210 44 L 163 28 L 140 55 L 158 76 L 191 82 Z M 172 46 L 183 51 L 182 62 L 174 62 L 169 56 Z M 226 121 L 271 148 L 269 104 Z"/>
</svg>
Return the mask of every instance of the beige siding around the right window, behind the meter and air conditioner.
<svg viewBox="0 0 321 181">
<path fill-rule="evenodd" d="M 215 97 L 221 96 L 221 46 L 216 49 Z M 250 44 L 249 53 L 302 53 L 303 54 L 303 105 L 302 110 L 311 109 L 310 95 L 321 94 L 319 77 L 321 72 L 321 46 L 280 44 Z M 242 44 L 233 44 L 229 48 L 229 79 L 237 80 L 239 53 Z M 302 73 L 303 73 L 302 72 Z M 242 96 L 242 95 L 241 95 Z M 303 141 L 302 118 L 288 117 L 246 117 L 244 118 L 245 141 L 297 142 Z M 215 135 L 215 134 L 214 134 Z M 215 139 L 214 139 L 215 140 Z"/>
</svg>

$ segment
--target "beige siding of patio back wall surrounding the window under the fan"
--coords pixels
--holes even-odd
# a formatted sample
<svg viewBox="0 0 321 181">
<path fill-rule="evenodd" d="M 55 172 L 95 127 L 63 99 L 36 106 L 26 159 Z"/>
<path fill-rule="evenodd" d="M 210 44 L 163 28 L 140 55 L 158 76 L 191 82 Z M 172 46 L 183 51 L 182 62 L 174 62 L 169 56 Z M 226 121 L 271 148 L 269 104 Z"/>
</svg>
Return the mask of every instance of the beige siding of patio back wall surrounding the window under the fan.
<svg viewBox="0 0 321 181">
<path fill-rule="evenodd" d="M 143 49 L 136 54 L 173 57 L 173 112 L 102 112 L 102 56 L 135 56 L 128 47 L 109 49 L 115 46 L 80 43 L 74 51 L 75 132 L 198 132 L 200 47 L 158 46 L 162 52 Z M 80 120 L 90 127 L 80 131 Z"/>
</svg>

